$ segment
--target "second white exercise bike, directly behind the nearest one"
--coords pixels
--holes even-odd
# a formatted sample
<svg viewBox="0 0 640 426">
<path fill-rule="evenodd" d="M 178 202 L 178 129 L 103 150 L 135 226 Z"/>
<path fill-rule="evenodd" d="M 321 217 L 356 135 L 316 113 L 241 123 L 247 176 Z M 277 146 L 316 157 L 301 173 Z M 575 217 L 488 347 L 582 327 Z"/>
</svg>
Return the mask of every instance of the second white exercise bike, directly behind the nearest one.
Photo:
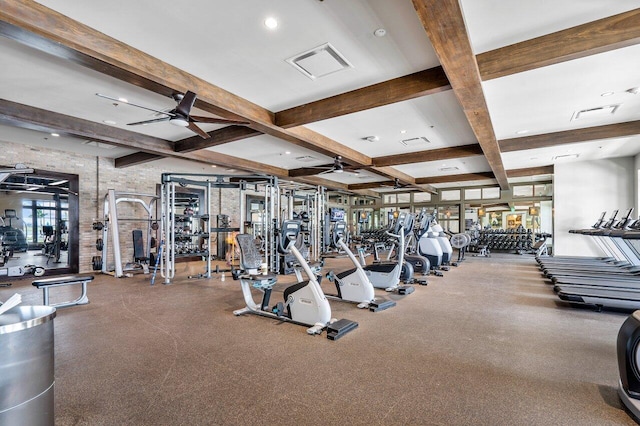
<svg viewBox="0 0 640 426">
<path fill-rule="evenodd" d="M 347 224 L 344 221 L 338 221 L 333 225 L 331 248 L 346 253 L 354 268 L 338 273 L 330 271 L 327 274 L 327 278 L 335 284 L 338 294 L 326 294 L 326 296 L 331 299 L 357 303 L 358 308 L 369 308 L 371 312 L 394 307 L 396 302 L 392 300 L 375 300 L 373 284 L 369 281 L 364 269 L 362 269 L 362 265 L 360 265 L 349 246 L 344 242 L 346 229 Z"/>
</svg>

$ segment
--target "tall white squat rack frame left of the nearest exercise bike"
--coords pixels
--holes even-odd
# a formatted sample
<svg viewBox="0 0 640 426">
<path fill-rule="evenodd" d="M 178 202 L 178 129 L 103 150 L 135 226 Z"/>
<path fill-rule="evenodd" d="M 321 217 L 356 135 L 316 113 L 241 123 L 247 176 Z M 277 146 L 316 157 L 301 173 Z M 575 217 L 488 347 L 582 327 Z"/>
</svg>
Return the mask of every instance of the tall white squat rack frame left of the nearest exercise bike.
<svg viewBox="0 0 640 426">
<path fill-rule="evenodd" d="M 204 190 L 204 200 L 202 208 L 190 217 L 200 219 L 202 222 L 202 233 L 193 235 L 204 238 L 206 245 L 196 255 L 201 256 L 205 261 L 205 272 L 199 274 L 199 278 L 211 278 L 211 233 L 219 232 L 220 228 L 212 227 L 211 215 L 211 190 L 215 188 L 232 188 L 239 190 L 239 212 L 240 220 L 238 230 L 245 232 L 246 221 L 246 196 L 245 191 L 252 189 L 255 193 L 261 193 L 264 197 L 265 214 L 262 215 L 260 226 L 260 237 L 265 242 L 265 263 L 269 269 L 278 272 L 277 262 L 277 239 L 276 229 L 278 228 L 278 217 L 276 212 L 280 209 L 278 197 L 278 178 L 267 175 L 212 175 L 199 173 L 163 173 L 161 189 L 161 219 L 162 219 L 162 252 L 160 256 L 160 274 L 164 279 L 164 284 L 170 284 L 176 273 L 176 188 L 177 187 L 197 187 Z"/>
</svg>

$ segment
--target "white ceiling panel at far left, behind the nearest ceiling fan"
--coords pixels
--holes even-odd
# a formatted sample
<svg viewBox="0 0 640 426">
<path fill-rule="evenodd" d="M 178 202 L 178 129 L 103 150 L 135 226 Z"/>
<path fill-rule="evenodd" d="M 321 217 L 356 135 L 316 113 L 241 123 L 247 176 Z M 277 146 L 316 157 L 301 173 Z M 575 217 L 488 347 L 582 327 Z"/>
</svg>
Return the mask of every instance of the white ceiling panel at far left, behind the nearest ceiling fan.
<svg viewBox="0 0 640 426">
<path fill-rule="evenodd" d="M 115 98 L 124 97 L 129 102 L 160 111 L 169 111 L 176 102 L 137 86 L 124 83 L 102 73 L 89 70 L 47 53 L 24 47 L 0 37 L 0 80 L 11 84 L 0 85 L 0 98 L 60 114 L 104 123 L 115 122 L 115 127 L 166 140 L 178 140 L 194 134 L 169 122 L 127 126 L 127 123 L 150 120 L 160 116 L 152 111 L 136 108 L 122 102 L 114 102 L 96 96 L 96 93 Z M 211 116 L 197 108 L 194 115 Z M 218 129 L 217 124 L 200 124 L 205 131 Z"/>
</svg>

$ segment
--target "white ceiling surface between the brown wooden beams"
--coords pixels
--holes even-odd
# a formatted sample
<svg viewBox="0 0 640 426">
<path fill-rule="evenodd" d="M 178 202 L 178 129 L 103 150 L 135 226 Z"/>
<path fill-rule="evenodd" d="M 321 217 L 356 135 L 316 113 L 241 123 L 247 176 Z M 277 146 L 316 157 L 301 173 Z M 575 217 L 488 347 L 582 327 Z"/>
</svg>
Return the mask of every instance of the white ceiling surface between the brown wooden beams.
<svg viewBox="0 0 640 426">
<path fill-rule="evenodd" d="M 439 65 L 410 0 L 193 0 L 180 7 L 168 0 L 43 0 L 39 3 L 272 112 Z M 638 2 L 461 0 L 461 5 L 471 44 L 478 54 L 632 10 L 638 7 Z M 278 19 L 276 30 L 263 25 L 269 16 Z M 378 28 L 384 28 L 386 36 L 374 36 Z M 287 58 L 327 42 L 344 55 L 353 68 L 311 80 L 286 62 Z M 193 136 L 189 130 L 169 123 L 127 126 L 126 123 L 154 118 L 154 114 L 126 104 L 114 106 L 114 102 L 95 93 L 123 96 L 130 102 L 160 110 L 175 106 L 170 98 L 5 37 L 0 37 L 0 58 L 2 99 L 98 123 L 110 120 L 116 122 L 113 124 L 116 127 L 171 141 Z M 496 137 L 510 139 L 638 120 L 640 95 L 626 92 L 640 86 L 638 69 L 640 46 L 630 46 L 485 81 L 482 86 Z M 601 96 L 605 92 L 614 93 Z M 620 104 L 611 116 L 571 121 L 577 110 L 609 104 Z M 195 109 L 192 112 L 210 115 Z M 369 157 L 477 142 L 451 90 L 305 126 Z M 201 127 L 211 131 L 221 126 L 202 124 Z M 516 133 L 522 130 L 527 133 Z M 363 140 L 366 136 L 377 136 L 378 140 Z M 425 137 L 429 142 L 410 146 L 401 143 L 417 137 Z M 7 126 L 0 127 L 0 140 L 111 158 L 135 152 L 126 148 L 90 147 L 74 138 L 53 140 L 48 134 Z M 268 135 L 209 150 L 283 169 L 332 162 L 328 155 Z M 640 153 L 640 137 L 508 152 L 502 154 L 502 160 L 507 170 L 546 166 L 554 163 L 553 157 L 569 151 L 580 155 L 577 160 L 564 161 L 631 156 Z M 307 156 L 314 159 L 299 160 Z M 184 165 L 177 161 L 165 159 L 158 164 L 163 170 L 173 171 L 172 164 L 176 168 Z M 440 170 L 444 167 L 458 170 Z M 394 169 L 413 178 L 491 170 L 482 156 L 398 165 Z M 348 184 L 388 180 L 371 172 L 332 173 L 321 177 Z M 463 185 L 490 183 L 495 180 Z M 460 182 L 434 186 L 458 184 Z"/>
</svg>

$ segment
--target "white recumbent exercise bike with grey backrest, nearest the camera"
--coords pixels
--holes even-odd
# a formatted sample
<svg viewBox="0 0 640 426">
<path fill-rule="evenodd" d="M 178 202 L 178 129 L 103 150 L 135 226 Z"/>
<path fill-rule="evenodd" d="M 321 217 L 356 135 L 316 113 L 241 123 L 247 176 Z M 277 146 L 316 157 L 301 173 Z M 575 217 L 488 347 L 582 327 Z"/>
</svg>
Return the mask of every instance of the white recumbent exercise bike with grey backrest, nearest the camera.
<svg viewBox="0 0 640 426">
<path fill-rule="evenodd" d="M 331 318 L 329 302 L 322 292 L 315 274 L 295 246 L 299 232 L 300 222 L 285 221 L 279 236 L 279 251 L 281 254 L 292 253 L 308 280 L 287 287 L 284 290 L 284 301 L 278 302 L 271 308 L 269 307 L 271 291 L 278 279 L 275 274 L 266 271 L 258 272 L 258 268 L 262 264 L 262 256 L 256 248 L 254 238 L 249 234 L 236 235 L 242 270 L 233 271 L 232 276 L 233 279 L 240 280 L 247 306 L 233 313 L 234 315 L 251 313 L 310 326 L 307 333 L 312 335 L 320 334 L 326 328 L 327 338 L 336 340 L 357 328 L 358 323 L 346 319 L 335 320 Z M 260 304 L 253 300 L 252 287 L 263 293 Z"/>
</svg>

